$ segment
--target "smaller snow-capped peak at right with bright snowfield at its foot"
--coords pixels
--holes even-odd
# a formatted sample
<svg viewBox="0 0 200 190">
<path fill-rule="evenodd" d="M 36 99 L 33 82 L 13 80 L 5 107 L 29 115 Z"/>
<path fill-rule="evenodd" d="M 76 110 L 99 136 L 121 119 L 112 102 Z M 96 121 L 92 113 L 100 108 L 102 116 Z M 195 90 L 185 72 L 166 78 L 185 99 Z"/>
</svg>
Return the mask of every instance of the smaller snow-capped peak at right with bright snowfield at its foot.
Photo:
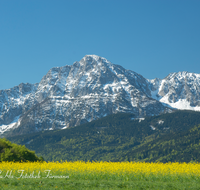
<svg viewBox="0 0 200 190">
<path fill-rule="evenodd" d="M 170 73 L 150 80 L 152 97 L 173 108 L 200 111 L 200 74 Z"/>
</svg>

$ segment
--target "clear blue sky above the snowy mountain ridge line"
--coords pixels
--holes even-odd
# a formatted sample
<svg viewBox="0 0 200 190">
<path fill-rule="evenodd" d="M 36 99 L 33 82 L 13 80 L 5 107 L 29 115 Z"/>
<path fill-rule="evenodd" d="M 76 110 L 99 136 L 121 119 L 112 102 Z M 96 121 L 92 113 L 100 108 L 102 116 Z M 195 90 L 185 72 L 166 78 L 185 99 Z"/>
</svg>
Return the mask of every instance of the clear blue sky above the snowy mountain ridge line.
<svg viewBox="0 0 200 190">
<path fill-rule="evenodd" d="M 0 89 L 87 54 L 148 79 L 200 73 L 200 0 L 0 0 Z"/>
</svg>

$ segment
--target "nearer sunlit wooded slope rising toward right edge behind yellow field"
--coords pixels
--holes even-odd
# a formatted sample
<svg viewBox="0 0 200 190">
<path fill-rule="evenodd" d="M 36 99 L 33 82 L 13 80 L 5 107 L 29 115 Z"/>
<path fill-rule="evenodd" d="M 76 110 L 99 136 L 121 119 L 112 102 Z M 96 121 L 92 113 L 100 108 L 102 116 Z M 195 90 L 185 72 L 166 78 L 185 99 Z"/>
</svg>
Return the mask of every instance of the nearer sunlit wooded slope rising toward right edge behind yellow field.
<svg viewBox="0 0 200 190">
<path fill-rule="evenodd" d="M 151 142 L 136 147 L 123 158 L 148 162 L 200 162 L 200 124 L 187 131 L 163 135 Z M 123 159 L 122 158 L 122 159 Z"/>
</svg>

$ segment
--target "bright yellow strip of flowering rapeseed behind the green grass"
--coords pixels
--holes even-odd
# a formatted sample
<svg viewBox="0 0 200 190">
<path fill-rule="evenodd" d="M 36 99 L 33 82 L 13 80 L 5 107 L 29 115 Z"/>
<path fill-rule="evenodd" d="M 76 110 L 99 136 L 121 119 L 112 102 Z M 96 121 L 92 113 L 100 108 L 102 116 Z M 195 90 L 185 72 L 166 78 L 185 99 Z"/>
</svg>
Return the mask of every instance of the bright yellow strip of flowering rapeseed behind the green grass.
<svg viewBox="0 0 200 190">
<path fill-rule="evenodd" d="M 161 174 L 200 176 L 199 163 L 145 163 L 145 162 L 1 162 L 0 173 L 12 174 L 24 171 L 38 173 L 51 171 L 56 174 L 91 173 L 91 174 Z M 0 174 L 0 175 L 1 175 Z"/>
</svg>

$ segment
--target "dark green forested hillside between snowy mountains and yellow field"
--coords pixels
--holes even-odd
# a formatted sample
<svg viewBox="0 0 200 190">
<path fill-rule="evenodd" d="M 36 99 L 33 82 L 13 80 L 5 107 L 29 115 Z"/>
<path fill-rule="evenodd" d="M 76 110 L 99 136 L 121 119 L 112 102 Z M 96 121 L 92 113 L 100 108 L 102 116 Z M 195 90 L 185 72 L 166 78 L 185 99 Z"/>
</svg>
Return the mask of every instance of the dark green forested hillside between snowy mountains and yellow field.
<svg viewBox="0 0 200 190">
<path fill-rule="evenodd" d="M 118 113 L 80 126 L 9 137 L 46 161 L 200 162 L 200 113 L 133 119 Z"/>
</svg>

